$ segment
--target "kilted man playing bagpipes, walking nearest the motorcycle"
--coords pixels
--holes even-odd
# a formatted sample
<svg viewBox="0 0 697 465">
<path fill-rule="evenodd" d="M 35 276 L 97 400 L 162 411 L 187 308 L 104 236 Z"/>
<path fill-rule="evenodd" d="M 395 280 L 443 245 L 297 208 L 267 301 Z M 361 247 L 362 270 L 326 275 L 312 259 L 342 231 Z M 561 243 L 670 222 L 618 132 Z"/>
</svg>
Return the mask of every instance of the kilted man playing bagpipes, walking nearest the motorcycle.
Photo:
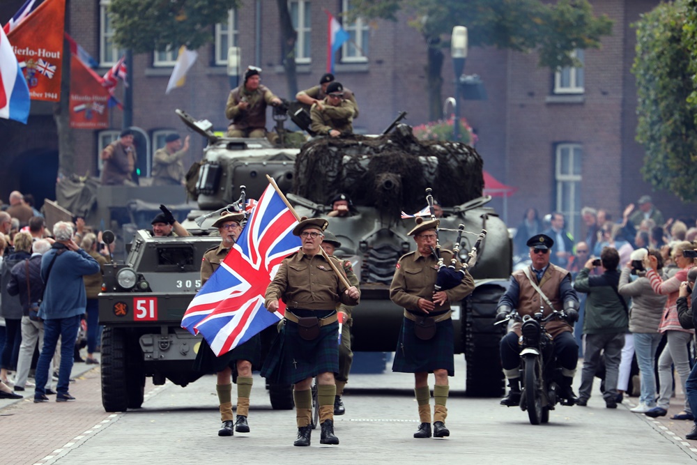
<svg viewBox="0 0 697 465">
<path fill-rule="evenodd" d="M 447 377 L 454 376 L 450 303 L 462 300 L 475 288 L 474 280 L 465 272 L 457 286 L 435 291 L 438 259 L 433 247 L 436 247 L 438 224 L 438 220 L 424 221 L 409 231 L 409 236 L 414 236 L 417 250 L 397 261 L 397 270 L 390 286 L 390 299 L 404 307 L 404 320 L 392 371 L 414 374 L 414 392 L 421 422 L 414 433 L 415 438 L 431 437 L 429 373 L 436 378 L 433 435 L 436 438 L 450 436 L 450 431 L 445 427 L 445 402 L 449 390 Z M 446 264 L 450 264 L 452 252 L 441 250 L 441 257 Z M 461 268 L 459 262 L 456 266 L 457 270 Z"/>
</svg>

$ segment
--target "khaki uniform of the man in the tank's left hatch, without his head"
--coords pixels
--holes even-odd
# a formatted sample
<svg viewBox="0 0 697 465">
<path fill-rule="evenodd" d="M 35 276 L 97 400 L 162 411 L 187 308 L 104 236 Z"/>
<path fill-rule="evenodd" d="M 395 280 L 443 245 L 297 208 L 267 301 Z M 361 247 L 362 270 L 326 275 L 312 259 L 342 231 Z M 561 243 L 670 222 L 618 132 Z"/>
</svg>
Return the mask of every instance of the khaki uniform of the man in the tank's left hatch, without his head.
<svg viewBox="0 0 697 465">
<path fill-rule="evenodd" d="M 225 105 L 225 117 L 232 120 L 227 128 L 228 137 L 265 137 L 266 107 L 277 98 L 266 86 L 259 85 L 256 91 L 247 91 L 245 84 L 230 91 Z M 240 109 L 240 102 L 250 104 Z"/>
</svg>

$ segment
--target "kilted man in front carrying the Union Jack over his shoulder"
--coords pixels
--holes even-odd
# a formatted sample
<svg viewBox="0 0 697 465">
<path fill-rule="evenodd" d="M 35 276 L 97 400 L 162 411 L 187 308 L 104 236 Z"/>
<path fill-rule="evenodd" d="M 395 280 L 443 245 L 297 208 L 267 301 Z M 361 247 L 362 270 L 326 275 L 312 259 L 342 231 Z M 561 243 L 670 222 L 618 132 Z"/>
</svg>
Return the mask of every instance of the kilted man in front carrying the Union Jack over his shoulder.
<svg viewBox="0 0 697 465">
<path fill-rule="evenodd" d="M 277 335 L 261 376 L 270 383 L 294 384 L 298 439 L 293 445 L 309 445 L 312 432 L 312 379 L 317 376 L 319 421 L 322 444 L 338 444 L 334 434 L 334 401 L 337 394 L 335 374 L 339 372 L 337 305 L 358 305 L 360 292 L 346 289 L 337 273 L 346 278 L 342 262 L 321 254 L 327 220 L 309 218 L 300 221 L 293 234 L 300 236 L 302 247 L 286 257 L 266 289 L 264 305 L 269 312 L 278 310 L 278 300 L 287 307 L 283 326 Z"/>
</svg>

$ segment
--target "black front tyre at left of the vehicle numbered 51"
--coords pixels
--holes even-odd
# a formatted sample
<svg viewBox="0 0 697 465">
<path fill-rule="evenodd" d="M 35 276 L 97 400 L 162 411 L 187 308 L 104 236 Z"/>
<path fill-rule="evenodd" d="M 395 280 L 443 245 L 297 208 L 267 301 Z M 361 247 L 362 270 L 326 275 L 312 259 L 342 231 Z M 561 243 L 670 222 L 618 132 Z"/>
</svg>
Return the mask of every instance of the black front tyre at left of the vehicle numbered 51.
<svg viewBox="0 0 697 465">
<path fill-rule="evenodd" d="M 102 333 L 102 406 L 107 412 L 128 409 L 125 370 L 125 333 L 118 328 L 104 328 Z"/>
</svg>

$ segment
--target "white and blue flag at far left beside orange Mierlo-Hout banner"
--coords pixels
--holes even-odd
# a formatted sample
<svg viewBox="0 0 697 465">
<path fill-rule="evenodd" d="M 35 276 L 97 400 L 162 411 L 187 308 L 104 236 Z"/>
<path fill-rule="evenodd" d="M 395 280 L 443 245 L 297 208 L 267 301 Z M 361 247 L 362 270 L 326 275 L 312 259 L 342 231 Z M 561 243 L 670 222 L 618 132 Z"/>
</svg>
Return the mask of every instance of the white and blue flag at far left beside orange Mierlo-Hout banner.
<svg viewBox="0 0 697 465">
<path fill-rule="evenodd" d="M 29 119 L 29 86 L 17 62 L 17 56 L 0 30 L 0 118 L 13 119 L 26 124 Z"/>
</svg>

